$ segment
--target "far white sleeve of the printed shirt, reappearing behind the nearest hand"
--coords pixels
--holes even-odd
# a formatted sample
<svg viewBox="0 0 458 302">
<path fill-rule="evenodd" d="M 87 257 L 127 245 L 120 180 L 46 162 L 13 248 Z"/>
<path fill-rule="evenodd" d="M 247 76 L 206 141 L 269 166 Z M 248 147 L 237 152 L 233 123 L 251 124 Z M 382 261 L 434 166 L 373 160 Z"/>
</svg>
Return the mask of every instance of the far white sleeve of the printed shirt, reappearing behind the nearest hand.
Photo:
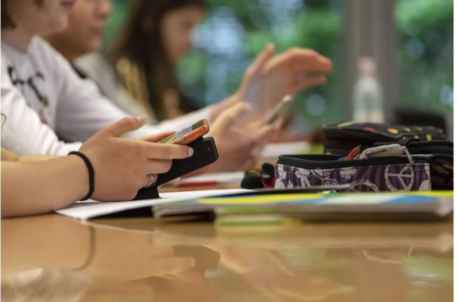
<svg viewBox="0 0 458 302">
<path fill-rule="evenodd" d="M 59 69 L 56 70 L 55 80 L 60 81 L 56 132 L 60 137 L 85 141 L 99 129 L 128 116 L 103 97 L 93 81 L 81 79 L 64 57 L 57 53 L 56 59 L 55 66 Z M 145 125 L 126 136 L 138 138 L 163 131 L 178 131 L 199 119 L 210 120 L 210 112 L 211 106 L 157 125 Z"/>
</svg>

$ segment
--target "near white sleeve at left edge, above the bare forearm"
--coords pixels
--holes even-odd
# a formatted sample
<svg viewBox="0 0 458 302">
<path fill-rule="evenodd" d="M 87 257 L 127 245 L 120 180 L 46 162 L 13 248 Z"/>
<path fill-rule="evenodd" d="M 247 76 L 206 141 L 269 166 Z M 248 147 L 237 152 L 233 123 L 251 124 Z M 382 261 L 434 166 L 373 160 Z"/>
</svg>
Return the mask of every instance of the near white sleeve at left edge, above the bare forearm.
<svg viewBox="0 0 458 302">
<path fill-rule="evenodd" d="M 59 141 L 54 131 L 44 125 L 37 112 L 30 108 L 18 88 L 4 72 L 2 57 L 2 80 L 0 95 L 1 112 L 6 116 L 2 130 L 2 147 L 19 154 L 67 155 L 78 150 L 80 142 L 65 143 Z"/>
</svg>

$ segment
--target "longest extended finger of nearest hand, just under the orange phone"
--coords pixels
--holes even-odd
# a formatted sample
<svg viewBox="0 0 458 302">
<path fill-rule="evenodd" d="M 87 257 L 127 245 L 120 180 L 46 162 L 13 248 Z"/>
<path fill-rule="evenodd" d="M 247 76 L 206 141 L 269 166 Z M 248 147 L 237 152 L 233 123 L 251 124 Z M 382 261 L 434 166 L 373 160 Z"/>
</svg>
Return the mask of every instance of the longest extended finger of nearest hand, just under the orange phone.
<svg viewBox="0 0 458 302">
<path fill-rule="evenodd" d="M 158 144 L 150 142 L 141 142 L 145 155 L 148 159 L 183 159 L 194 154 L 191 147 L 178 144 Z"/>
</svg>

